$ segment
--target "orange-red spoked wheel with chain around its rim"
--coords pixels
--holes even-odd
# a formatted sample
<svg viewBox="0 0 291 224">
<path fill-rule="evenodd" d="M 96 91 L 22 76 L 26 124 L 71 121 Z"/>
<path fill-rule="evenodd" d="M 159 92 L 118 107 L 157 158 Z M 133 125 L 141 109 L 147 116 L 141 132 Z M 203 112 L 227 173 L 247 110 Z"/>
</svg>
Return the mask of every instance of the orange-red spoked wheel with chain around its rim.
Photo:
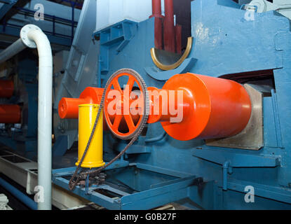
<svg viewBox="0 0 291 224">
<path fill-rule="evenodd" d="M 107 81 L 104 118 L 112 134 L 132 139 L 142 132 L 149 117 L 147 85 L 136 71 L 121 69 Z"/>
</svg>

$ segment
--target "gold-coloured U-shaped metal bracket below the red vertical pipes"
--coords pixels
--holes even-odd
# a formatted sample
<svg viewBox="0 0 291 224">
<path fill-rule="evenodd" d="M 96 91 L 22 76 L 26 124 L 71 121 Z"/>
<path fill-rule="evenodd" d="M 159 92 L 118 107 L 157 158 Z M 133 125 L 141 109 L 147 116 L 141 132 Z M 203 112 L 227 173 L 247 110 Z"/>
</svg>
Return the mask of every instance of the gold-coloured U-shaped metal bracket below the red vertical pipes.
<svg viewBox="0 0 291 224">
<path fill-rule="evenodd" d="M 161 70 L 172 70 L 172 69 L 176 69 L 178 66 L 180 66 L 184 60 L 189 56 L 191 50 L 192 50 L 192 45 L 193 45 L 193 37 L 188 37 L 188 42 L 187 42 L 187 48 L 184 52 L 184 54 L 182 55 L 182 57 L 180 57 L 180 59 L 175 62 L 174 64 L 163 64 L 158 60 L 158 55 L 156 52 L 156 48 L 151 48 L 151 59 L 153 59 L 154 64 L 156 64 L 156 66 L 161 69 Z"/>
</svg>

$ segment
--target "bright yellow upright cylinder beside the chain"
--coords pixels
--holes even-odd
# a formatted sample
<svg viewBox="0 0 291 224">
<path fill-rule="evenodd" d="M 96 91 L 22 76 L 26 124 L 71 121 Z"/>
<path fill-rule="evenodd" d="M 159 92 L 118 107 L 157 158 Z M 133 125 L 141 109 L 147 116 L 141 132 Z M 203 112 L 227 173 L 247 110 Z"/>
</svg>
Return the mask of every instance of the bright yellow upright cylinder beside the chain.
<svg viewBox="0 0 291 224">
<path fill-rule="evenodd" d="M 78 141 L 78 162 L 83 156 L 83 153 L 88 144 L 90 134 L 93 130 L 95 119 L 98 113 L 99 105 L 97 104 L 82 104 L 79 105 L 79 141 Z M 86 153 L 81 167 L 96 168 L 102 167 L 103 162 L 103 111 L 100 114 L 99 121 L 93 135 L 90 147 Z"/>
</svg>

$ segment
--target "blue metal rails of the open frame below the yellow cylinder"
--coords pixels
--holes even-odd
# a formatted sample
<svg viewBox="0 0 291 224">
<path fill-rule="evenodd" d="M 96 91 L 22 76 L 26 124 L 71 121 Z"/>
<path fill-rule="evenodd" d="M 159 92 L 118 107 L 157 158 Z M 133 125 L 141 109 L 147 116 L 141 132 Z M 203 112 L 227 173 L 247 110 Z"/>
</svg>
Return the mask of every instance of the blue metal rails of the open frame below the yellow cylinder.
<svg viewBox="0 0 291 224">
<path fill-rule="evenodd" d="M 192 194 L 194 191 L 196 191 L 198 194 L 198 189 L 201 187 L 201 184 L 203 184 L 203 179 L 197 178 L 191 174 L 175 172 L 174 170 L 144 165 L 142 163 L 129 164 L 124 160 L 115 162 L 105 170 L 116 171 L 126 167 L 134 167 L 135 170 L 144 170 L 151 172 L 151 174 L 163 174 L 164 176 L 170 176 L 174 179 L 152 184 L 149 186 L 149 188 L 147 188 L 147 190 L 132 194 L 121 190 L 119 186 L 112 187 L 107 184 L 90 186 L 90 188 L 88 188 L 88 186 L 86 188 L 76 186 L 76 188 L 73 190 L 73 193 L 76 195 L 81 195 L 81 197 L 84 197 L 91 202 L 95 202 L 102 207 L 106 207 L 107 209 L 152 209 L 154 207 L 160 207 L 163 204 L 168 204 L 172 202 L 172 200 L 182 200 L 186 197 L 189 197 L 189 191 L 191 191 Z M 53 171 L 54 183 L 58 186 L 61 186 L 62 188 L 69 190 L 69 180 L 65 179 L 65 176 L 72 176 L 75 169 L 76 168 L 65 168 Z M 126 183 L 130 184 L 128 182 Z M 144 185 L 144 183 L 142 184 Z M 107 190 L 107 192 L 114 193 L 114 195 L 118 195 L 119 197 L 116 198 L 102 195 L 96 192 L 96 190 Z"/>
</svg>

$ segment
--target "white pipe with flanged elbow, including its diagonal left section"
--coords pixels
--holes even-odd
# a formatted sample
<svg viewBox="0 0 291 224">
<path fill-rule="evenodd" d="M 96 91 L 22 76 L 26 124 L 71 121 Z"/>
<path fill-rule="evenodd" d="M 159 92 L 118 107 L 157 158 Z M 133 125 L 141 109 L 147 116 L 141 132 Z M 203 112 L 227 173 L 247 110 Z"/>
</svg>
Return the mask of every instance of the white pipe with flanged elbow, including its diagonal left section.
<svg viewBox="0 0 291 224">
<path fill-rule="evenodd" d="M 39 210 L 51 209 L 52 167 L 52 98 L 53 55 L 46 34 L 35 25 L 26 25 L 20 31 L 20 39 L 0 53 L 0 63 L 21 50 L 37 48 L 39 52 L 39 106 L 38 106 L 38 186 Z"/>
</svg>

